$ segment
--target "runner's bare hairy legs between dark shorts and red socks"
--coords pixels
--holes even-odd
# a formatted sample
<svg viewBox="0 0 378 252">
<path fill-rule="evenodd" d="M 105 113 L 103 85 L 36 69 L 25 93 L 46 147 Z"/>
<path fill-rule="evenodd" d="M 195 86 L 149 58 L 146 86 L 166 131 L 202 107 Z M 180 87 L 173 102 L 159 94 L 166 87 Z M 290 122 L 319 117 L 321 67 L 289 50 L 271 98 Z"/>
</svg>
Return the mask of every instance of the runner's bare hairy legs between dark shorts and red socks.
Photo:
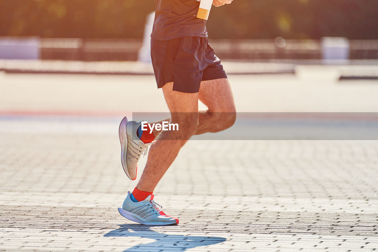
<svg viewBox="0 0 378 252">
<path fill-rule="evenodd" d="M 155 189 L 192 135 L 222 131 L 235 122 L 234 98 L 228 79 L 203 81 L 198 93 L 172 91 L 172 85 L 172 82 L 164 85 L 163 93 L 171 112 L 171 123 L 178 123 L 180 131 L 154 132 L 159 135 L 150 147 L 146 167 L 136 185 L 141 191 Z M 198 112 L 198 99 L 208 110 Z"/>
</svg>

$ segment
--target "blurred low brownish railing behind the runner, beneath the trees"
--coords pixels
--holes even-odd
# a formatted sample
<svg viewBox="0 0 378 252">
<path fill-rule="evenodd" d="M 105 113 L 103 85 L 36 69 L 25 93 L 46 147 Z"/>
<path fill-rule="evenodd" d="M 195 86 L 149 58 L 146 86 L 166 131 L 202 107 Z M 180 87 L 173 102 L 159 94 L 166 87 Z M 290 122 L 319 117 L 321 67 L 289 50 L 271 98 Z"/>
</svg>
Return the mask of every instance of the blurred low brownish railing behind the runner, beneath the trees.
<svg viewBox="0 0 378 252">
<path fill-rule="evenodd" d="M 378 40 L 349 40 L 350 59 L 378 59 Z M 322 59 L 321 40 L 211 39 L 221 59 Z M 40 39 L 40 59 L 136 61 L 142 39 Z"/>
</svg>

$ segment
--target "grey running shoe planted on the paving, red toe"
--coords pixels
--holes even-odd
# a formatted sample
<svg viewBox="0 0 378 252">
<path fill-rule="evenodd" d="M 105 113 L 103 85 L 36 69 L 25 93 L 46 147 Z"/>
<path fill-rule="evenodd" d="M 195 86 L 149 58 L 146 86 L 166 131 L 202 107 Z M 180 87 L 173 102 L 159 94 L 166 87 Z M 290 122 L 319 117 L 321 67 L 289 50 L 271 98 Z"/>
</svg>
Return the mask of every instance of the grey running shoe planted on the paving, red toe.
<svg viewBox="0 0 378 252">
<path fill-rule="evenodd" d="M 122 207 L 118 207 L 118 212 L 126 219 L 144 225 L 178 224 L 177 218 L 166 215 L 160 208 L 162 206 L 153 201 L 153 194 L 147 196 L 144 201 L 133 202 L 129 191 Z"/>
</svg>

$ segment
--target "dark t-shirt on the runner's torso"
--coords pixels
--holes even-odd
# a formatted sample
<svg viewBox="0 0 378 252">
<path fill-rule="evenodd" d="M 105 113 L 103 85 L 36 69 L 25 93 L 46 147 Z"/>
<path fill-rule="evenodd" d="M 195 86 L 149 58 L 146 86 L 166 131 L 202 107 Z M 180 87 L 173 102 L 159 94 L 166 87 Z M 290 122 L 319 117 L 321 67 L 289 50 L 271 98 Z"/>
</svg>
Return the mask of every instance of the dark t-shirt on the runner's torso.
<svg viewBox="0 0 378 252">
<path fill-rule="evenodd" d="M 151 37 L 169 40 L 177 37 L 208 37 L 206 21 L 197 18 L 197 0 L 156 0 Z"/>
</svg>

